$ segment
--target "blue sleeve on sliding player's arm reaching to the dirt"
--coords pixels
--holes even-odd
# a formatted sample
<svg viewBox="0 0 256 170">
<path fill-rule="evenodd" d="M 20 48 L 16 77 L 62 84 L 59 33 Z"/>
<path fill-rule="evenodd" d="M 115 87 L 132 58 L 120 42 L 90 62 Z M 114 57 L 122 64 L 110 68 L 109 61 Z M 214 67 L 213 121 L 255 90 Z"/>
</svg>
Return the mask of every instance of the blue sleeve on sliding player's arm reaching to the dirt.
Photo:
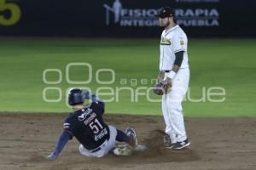
<svg viewBox="0 0 256 170">
<path fill-rule="evenodd" d="M 59 154 L 61 153 L 61 150 L 63 150 L 63 148 L 65 147 L 69 139 L 72 139 L 71 134 L 68 133 L 67 131 L 63 131 L 57 143 L 55 144 L 55 150 L 54 150 L 55 156 L 59 156 Z"/>
</svg>

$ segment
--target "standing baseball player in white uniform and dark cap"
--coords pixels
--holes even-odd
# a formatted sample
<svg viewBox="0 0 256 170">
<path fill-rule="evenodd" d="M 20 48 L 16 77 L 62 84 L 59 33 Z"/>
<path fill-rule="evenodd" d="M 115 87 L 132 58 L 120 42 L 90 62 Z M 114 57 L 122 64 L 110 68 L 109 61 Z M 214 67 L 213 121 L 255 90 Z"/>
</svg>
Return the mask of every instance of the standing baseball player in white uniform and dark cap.
<svg viewBox="0 0 256 170">
<path fill-rule="evenodd" d="M 174 21 L 172 8 L 161 8 L 160 26 L 165 30 L 160 40 L 160 73 L 158 82 L 164 89 L 162 112 L 166 122 L 166 134 L 170 143 L 166 147 L 181 150 L 190 145 L 183 121 L 182 101 L 189 88 L 188 38 Z"/>
</svg>

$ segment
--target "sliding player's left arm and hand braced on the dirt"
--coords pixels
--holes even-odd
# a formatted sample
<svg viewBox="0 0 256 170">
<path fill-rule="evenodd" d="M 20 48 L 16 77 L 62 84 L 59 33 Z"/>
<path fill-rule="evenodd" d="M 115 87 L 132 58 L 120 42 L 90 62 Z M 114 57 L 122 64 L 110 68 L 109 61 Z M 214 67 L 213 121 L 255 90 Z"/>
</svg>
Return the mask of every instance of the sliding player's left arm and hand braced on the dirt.
<svg viewBox="0 0 256 170">
<path fill-rule="evenodd" d="M 67 141 L 71 139 L 70 133 L 67 133 L 67 131 L 63 131 L 55 144 L 55 150 L 49 154 L 46 158 L 48 160 L 55 160 L 61 153 L 61 150 L 65 147 L 67 144 Z"/>
</svg>

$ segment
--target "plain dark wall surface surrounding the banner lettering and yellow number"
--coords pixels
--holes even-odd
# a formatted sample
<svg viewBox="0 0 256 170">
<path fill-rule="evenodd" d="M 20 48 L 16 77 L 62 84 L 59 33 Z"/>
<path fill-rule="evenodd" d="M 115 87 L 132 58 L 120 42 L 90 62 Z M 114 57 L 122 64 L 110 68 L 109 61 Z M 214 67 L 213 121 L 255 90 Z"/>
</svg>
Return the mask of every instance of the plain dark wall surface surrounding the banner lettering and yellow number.
<svg viewBox="0 0 256 170">
<path fill-rule="evenodd" d="M 182 26 L 189 37 L 256 37 L 256 1 L 176 3 L 173 0 L 121 0 L 123 8 L 217 8 L 219 26 Z M 22 15 L 14 26 L 1 26 L 1 36 L 159 37 L 154 27 L 106 26 L 103 4 L 113 0 L 16 0 Z M 0 15 L 9 17 L 9 11 Z M 113 18 L 113 16 L 111 15 Z"/>
</svg>

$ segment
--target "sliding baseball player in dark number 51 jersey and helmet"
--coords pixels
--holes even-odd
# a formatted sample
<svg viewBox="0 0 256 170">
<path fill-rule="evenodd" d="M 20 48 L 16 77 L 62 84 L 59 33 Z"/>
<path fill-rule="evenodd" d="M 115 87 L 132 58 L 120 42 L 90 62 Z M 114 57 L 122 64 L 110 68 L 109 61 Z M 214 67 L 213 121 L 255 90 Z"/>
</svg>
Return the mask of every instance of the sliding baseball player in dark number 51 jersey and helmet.
<svg viewBox="0 0 256 170">
<path fill-rule="evenodd" d="M 84 99 L 91 99 L 91 105 L 83 105 Z M 74 112 L 67 116 L 63 132 L 55 144 L 55 150 L 47 156 L 48 160 L 55 160 L 67 141 L 73 137 L 80 143 L 80 154 L 89 157 L 106 156 L 114 149 L 116 140 L 131 146 L 137 145 L 136 133 L 131 127 L 126 128 L 124 133 L 103 121 L 104 103 L 96 95 L 73 88 L 68 93 L 68 104 L 73 107 Z M 116 151 L 116 155 L 124 154 Z"/>
</svg>

